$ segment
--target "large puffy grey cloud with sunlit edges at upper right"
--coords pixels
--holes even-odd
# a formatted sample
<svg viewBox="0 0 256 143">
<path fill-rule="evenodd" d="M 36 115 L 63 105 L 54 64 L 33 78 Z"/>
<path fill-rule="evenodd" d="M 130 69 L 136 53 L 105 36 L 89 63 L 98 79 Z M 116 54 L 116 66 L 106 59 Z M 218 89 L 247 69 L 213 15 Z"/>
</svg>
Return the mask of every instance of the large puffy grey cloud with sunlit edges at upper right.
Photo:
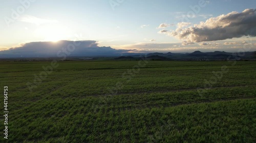
<svg viewBox="0 0 256 143">
<path fill-rule="evenodd" d="M 160 31 L 189 42 L 217 41 L 243 36 L 256 36 L 256 9 L 231 12 L 212 17 L 190 27 L 178 26 L 175 31 Z M 178 24 L 179 25 L 179 24 Z"/>
</svg>

